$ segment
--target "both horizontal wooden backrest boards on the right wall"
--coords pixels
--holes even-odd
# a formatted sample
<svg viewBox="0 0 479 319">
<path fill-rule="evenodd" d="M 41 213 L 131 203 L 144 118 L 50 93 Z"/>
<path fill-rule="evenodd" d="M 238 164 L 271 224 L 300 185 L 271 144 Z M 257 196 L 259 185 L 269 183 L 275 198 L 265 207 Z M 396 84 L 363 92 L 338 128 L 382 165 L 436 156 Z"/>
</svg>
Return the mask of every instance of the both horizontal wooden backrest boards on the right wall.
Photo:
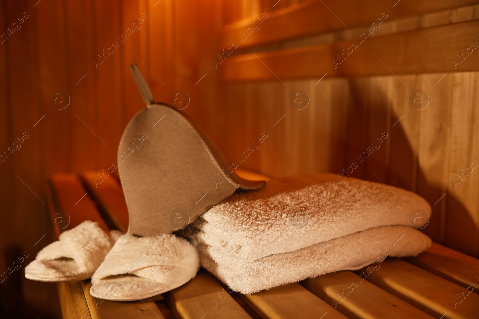
<svg viewBox="0 0 479 319">
<path fill-rule="evenodd" d="M 384 34 L 386 23 L 381 25 L 477 3 L 402 0 L 393 7 L 379 0 L 308 1 L 225 27 L 224 50 L 213 63 L 228 82 L 477 71 L 479 55 L 473 54 L 479 45 L 477 20 L 468 21 L 468 27 L 457 18 L 457 23 L 398 33 L 391 33 L 395 32 L 392 26 L 389 34 Z M 362 28 L 343 41 L 331 33 L 324 44 L 294 44 L 288 49 L 271 45 L 352 27 Z M 260 47 L 249 48 L 253 46 Z M 237 49 L 250 53 L 233 54 Z"/>
</svg>

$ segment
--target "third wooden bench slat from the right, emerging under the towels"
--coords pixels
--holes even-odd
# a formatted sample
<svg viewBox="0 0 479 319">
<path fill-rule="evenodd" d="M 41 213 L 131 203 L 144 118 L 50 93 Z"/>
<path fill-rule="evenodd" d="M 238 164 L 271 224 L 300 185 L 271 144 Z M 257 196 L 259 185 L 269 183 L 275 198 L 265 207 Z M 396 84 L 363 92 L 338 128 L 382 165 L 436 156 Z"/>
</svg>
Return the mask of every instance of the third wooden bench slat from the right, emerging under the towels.
<svg viewBox="0 0 479 319">
<path fill-rule="evenodd" d="M 433 318 L 350 271 L 320 275 L 300 284 L 348 318 Z"/>
</svg>

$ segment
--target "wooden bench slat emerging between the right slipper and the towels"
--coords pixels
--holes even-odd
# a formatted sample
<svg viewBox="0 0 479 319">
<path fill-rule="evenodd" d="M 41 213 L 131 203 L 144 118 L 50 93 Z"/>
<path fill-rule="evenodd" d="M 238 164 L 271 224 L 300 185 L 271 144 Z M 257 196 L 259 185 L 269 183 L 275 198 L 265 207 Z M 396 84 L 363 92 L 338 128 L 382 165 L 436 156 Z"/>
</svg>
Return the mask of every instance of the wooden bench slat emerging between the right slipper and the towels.
<svg viewBox="0 0 479 319">
<path fill-rule="evenodd" d="M 216 282 L 213 275 L 200 269 L 192 280 L 163 294 L 177 318 L 251 318 Z"/>
</svg>

